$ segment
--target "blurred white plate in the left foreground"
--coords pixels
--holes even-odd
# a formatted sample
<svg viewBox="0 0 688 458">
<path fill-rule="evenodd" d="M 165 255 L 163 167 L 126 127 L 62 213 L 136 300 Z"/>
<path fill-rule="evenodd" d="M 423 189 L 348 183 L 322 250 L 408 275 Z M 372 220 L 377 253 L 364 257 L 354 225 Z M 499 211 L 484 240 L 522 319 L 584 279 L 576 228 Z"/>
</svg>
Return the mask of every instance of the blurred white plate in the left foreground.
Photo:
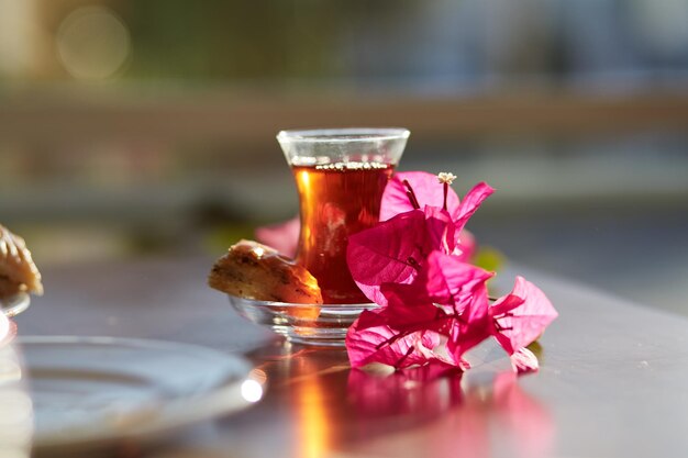
<svg viewBox="0 0 688 458">
<path fill-rule="evenodd" d="M 18 342 L 37 451 L 151 440 L 262 396 L 246 360 L 203 347 L 110 337 Z"/>
</svg>

